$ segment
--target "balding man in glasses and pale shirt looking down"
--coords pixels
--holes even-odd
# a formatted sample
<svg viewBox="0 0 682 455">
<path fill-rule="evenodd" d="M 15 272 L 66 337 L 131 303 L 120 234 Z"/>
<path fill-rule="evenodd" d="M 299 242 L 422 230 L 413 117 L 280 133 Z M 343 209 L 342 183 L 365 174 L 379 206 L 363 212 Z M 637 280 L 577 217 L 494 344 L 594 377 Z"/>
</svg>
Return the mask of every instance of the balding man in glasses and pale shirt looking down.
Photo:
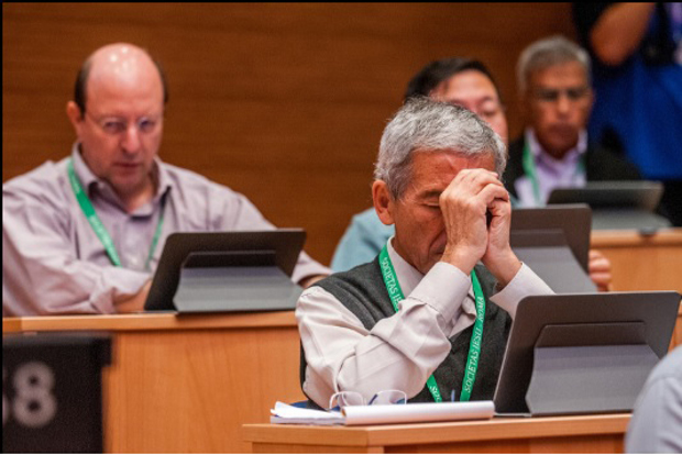
<svg viewBox="0 0 682 455">
<path fill-rule="evenodd" d="M 172 233 L 274 228 L 242 195 L 158 158 L 167 90 L 145 51 L 96 51 L 75 99 L 70 156 L 2 186 L 3 315 L 141 310 Z M 301 253 L 293 280 L 327 274 Z"/>
</svg>

